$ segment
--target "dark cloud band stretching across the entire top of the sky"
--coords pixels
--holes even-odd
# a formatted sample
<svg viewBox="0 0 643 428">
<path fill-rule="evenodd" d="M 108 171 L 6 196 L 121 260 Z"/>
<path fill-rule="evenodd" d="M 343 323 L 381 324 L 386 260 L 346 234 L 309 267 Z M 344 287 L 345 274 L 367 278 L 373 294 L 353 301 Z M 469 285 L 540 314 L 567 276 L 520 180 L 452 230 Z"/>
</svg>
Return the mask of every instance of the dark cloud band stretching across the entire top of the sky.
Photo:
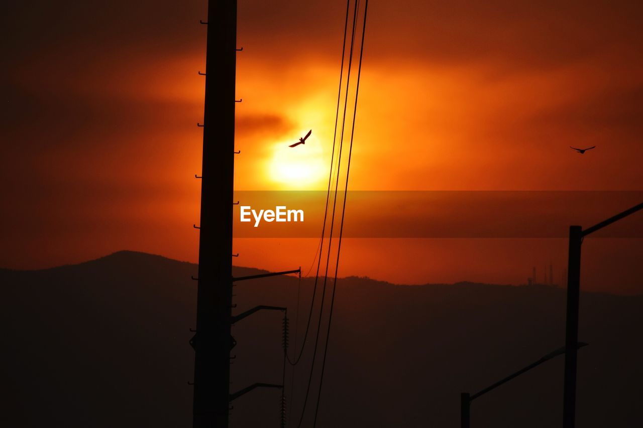
<svg viewBox="0 0 643 428">
<path fill-rule="evenodd" d="M 507 67 L 550 67 L 592 57 L 614 46 L 643 48 L 643 3 L 633 1 L 413 0 L 372 1 L 367 56 L 372 61 L 469 63 L 493 60 Z M 3 51 L 14 67 L 39 73 L 65 62 L 110 58 L 158 60 L 205 48 L 207 2 L 116 0 L 107 3 L 12 1 L 3 17 Z M 340 57 L 345 2 L 239 2 L 239 44 L 244 55 L 275 62 Z M 42 57 L 42 61 L 39 60 Z M 59 58 L 56 64 L 55 58 Z"/>
</svg>

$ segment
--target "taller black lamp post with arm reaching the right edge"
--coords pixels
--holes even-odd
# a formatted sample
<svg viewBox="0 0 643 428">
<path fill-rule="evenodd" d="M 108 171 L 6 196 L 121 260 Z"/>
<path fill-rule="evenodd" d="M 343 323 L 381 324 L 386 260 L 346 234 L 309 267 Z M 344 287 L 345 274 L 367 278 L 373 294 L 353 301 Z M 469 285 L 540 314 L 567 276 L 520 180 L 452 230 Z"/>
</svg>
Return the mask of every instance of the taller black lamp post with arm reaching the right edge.
<svg viewBox="0 0 643 428">
<path fill-rule="evenodd" d="M 643 209 L 643 202 L 585 230 L 583 230 L 581 226 L 569 227 L 567 311 L 565 321 L 565 389 L 563 392 L 564 428 L 574 428 L 575 425 L 577 348 L 574 344 L 578 339 L 578 307 L 581 289 L 581 244 L 583 243 L 583 238 L 641 209 Z"/>
</svg>

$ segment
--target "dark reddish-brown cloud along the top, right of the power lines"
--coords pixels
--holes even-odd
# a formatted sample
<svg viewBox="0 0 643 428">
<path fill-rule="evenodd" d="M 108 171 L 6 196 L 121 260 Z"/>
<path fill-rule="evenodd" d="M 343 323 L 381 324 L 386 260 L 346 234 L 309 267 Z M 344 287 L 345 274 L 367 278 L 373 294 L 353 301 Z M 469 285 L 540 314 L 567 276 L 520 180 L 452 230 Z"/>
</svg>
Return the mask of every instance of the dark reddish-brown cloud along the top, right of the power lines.
<svg viewBox="0 0 643 428">
<path fill-rule="evenodd" d="M 369 53 L 428 62 L 494 60 L 551 66 L 615 43 L 639 49 L 643 7 L 632 1 L 373 2 Z M 397 53 L 396 53 L 397 52 Z"/>
</svg>

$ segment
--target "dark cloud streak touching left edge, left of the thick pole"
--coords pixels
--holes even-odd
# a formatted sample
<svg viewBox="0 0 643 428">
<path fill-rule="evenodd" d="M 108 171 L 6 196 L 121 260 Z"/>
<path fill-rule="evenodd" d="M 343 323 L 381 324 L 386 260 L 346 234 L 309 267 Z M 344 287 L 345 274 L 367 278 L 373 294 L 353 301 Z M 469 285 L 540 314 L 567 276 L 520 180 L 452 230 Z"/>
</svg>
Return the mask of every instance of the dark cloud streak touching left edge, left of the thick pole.
<svg viewBox="0 0 643 428">
<path fill-rule="evenodd" d="M 0 135 L 7 152 L 49 152 L 112 141 L 152 127 L 167 133 L 195 127 L 199 103 L 35 93 L 3 87 Z M 5 152 L 6 153 L 6 152 Z"/>
</svg>

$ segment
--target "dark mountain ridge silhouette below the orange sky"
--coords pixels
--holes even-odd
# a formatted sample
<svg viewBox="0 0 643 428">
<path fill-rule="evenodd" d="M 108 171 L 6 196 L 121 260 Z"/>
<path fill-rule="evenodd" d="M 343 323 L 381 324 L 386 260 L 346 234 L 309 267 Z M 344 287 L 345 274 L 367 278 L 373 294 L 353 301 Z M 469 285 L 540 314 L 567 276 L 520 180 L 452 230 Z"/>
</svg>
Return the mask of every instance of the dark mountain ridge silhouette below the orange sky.
<svg viewBox="0 0 643 428">
<path fill-rule="evenodd" d="M 196 272 L 192 263 L 131 251 L 40 271 L 0 269 L 0 425 L 190 426 Z M 297 287 L 293 277 L 240 282 L 233 313 L 287 306 L 294 352 Z M 311 290 L 312 280 L 302 280 L 300 338 Z M 280 383 L 281 316 L 258 312 L 233 327 L 231 391 Z M 460 392 L 475 393 L 562 346 L 564 320 L 565 290 L 553 287 L 343 278 L 318 426 L 458 427 Z M 579 351 L 578 426 L 643 422 L 642 326 L 641 296 L 582 294 L 579 339 L 590 346 Z M 309 353 L 295 373 L 289 426 L 298 421 Z M 562 397 L 557 357 L 476 399 L 472 424 L 559 426 Z M 277 389 L 238 398 L 231 427 L 276 426 L 279 398 Z"/>
</svg>

